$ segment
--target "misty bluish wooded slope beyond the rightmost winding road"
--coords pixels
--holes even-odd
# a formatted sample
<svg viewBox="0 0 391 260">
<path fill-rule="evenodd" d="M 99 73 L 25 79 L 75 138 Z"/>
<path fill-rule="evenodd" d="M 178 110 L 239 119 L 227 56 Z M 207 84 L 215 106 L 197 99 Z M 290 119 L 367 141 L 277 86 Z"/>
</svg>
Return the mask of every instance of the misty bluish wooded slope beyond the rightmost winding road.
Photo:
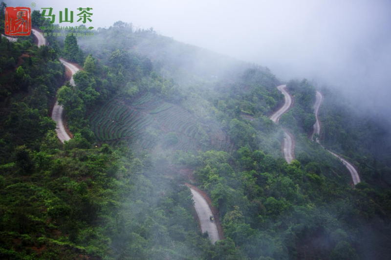
<svg viewBox="0 0 391 260">
<path fill-rule="evenodd" d="M 352 108 L 337 90 L 322 89 L 320 140 L 329 150 L 354 162 L 360 176 L 378 187 L 391 184 L 391 138 L 382 118 Z"/>
</svg>

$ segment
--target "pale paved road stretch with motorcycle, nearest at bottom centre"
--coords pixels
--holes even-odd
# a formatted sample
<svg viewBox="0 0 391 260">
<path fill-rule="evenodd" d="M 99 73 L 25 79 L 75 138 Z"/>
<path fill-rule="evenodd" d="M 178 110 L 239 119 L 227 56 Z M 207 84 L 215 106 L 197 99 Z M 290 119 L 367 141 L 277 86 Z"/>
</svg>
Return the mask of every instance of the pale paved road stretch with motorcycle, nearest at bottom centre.
<svg viewBox="0 0 391 260">
<path fill-rule="evenodd" d="M 199 192 L 192 187 L 189 188 L 193 194 L 194 208 L 197 213 L 199 223 L 201 224 L 201 231 L 202 233 L 208 231 L 209 239 L 215 243 L 217 240 L 220 240 L 220 237 L 218 236 L 216 223 L 209 220 L 209 216 L 212 215 L 212 210 L 206 199 Z"/>
</svg>

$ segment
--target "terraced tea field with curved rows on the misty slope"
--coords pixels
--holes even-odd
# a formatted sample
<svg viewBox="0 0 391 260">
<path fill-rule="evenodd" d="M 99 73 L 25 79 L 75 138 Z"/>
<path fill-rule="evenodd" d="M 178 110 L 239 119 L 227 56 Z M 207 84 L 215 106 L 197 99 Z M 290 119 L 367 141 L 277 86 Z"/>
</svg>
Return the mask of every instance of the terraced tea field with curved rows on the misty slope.
<svg viewBox="0 0 391 260">
<path fill-rule="evenodd" d="M 174 150 L 199 150 L 201 146 L 199 122 L 189 111 L 177 105 L 163 102 L 151 93 L 129 103 L 122 99 L 110 99 L 93 110 L 89 116 L 91 130 L 101 142 L 126 145 L 135 151 L 151 150 L 161 136 L 175 132 L 178 142 Z M 159 134 L 151 134 L 155 130 Z M 232 144 L 216 126 L 206 131 L 212 137 L 214 149 L 231 152 Z"/>
</svg>

